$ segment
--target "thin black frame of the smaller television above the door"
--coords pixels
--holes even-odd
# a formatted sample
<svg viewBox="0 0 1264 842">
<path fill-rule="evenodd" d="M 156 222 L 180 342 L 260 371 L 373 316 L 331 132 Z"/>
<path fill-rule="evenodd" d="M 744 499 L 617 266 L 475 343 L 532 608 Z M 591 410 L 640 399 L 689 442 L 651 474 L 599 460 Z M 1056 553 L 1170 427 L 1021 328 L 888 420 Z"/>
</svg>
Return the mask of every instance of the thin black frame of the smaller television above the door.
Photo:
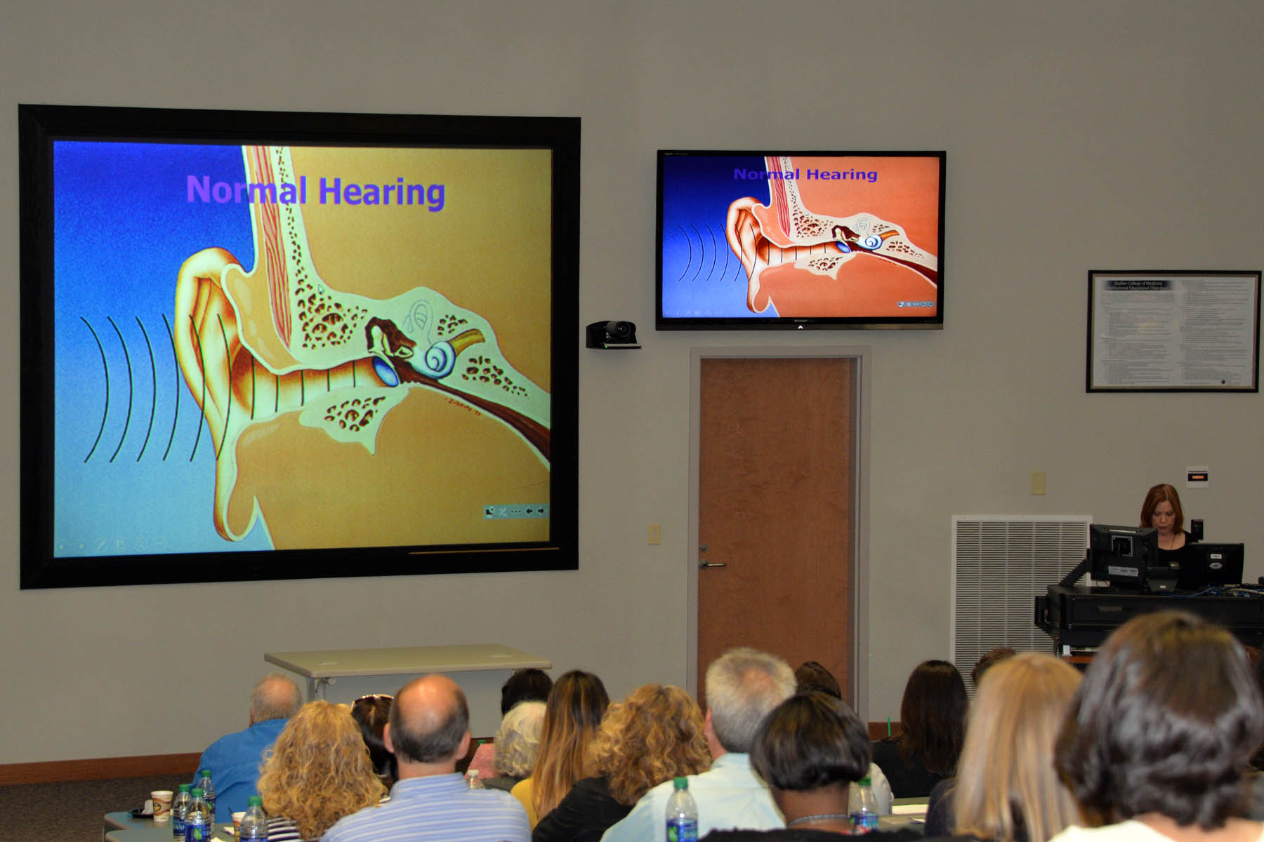
<svg viewBox="0 0 1264 842">
<path fill-rule="evenodd" d="M 938 158 L 938 282 L 935 284 L 935 314 L 933 317 L 681 317 L 665 316 L 662 311 L 662 250 L 664 250 L 664 163 L 669 157 L 885 157 L 885 158 Z M 657 151 L 657 193 L 655 223 L 655 328 L 659 331 L 805 331 L 805 329 L 925 329 L 938 331 L 944 326 L 944 210 L 947 188 L 947 150 L 715 150 L 715 149 L 660 149 Z M 727 246 L 726 246 L 727 247 Z"/>
</svg>

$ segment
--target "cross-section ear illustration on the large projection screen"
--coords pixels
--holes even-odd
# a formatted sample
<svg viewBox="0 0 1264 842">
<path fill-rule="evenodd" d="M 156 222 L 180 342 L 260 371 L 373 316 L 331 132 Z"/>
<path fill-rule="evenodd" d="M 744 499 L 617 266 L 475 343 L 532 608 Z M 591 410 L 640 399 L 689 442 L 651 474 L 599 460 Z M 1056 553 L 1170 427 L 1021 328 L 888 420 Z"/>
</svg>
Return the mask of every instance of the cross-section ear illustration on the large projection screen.
<svg viewBox="0 0 1264 842">
<path fill-rule="evenodd" d="M 296 182 L 287 146 L 244 146 L 243 158 L 252 184 Z M 258 500 L 248 516 L 229 514 L 243 434 L 293 413 L 302 427 L 375 453 L 386 417 L 411 391 L 432 390 L 494 418 L 547 467 L 550 395 L 506 360 L 485 318 L 423 285 L 387 299 L 334 289 L 316 271 L 300 203 L 249 208 L 253 269 L 220 247 L 190 256 L 172 326 L 215 447 L 222 538 L 240 540 L 262 519 Z"/>
</svg>

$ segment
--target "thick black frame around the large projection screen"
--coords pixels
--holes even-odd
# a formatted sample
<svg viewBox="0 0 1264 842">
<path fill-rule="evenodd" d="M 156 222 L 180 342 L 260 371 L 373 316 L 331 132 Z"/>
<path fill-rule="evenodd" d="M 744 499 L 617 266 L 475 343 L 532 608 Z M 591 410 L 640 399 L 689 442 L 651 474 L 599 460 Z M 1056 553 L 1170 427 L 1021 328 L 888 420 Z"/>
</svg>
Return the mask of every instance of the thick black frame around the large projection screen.
<svg viewBox="0 0 1264 842">
<path fill-rule="evenodd" d="M 19 105 L 20 587 L 578 568 L 580 119 Z M 53 555 L 54 140 L 522 148 L 552 153 L 550 537 L 521 544 Z"/>
</svg>

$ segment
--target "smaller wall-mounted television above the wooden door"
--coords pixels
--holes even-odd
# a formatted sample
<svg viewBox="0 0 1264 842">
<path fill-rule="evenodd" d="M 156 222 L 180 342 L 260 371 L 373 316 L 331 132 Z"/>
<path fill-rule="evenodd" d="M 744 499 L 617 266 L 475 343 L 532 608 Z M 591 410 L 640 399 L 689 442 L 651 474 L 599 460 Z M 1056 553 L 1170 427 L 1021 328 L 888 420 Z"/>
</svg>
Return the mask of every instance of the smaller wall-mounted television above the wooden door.
<svg viewBox="0 0 1264 842">
<path fill-rule="evenodd" d="M 944 151 L 659 151 L 659 329 L 942 328 Z"/>
</svg>

